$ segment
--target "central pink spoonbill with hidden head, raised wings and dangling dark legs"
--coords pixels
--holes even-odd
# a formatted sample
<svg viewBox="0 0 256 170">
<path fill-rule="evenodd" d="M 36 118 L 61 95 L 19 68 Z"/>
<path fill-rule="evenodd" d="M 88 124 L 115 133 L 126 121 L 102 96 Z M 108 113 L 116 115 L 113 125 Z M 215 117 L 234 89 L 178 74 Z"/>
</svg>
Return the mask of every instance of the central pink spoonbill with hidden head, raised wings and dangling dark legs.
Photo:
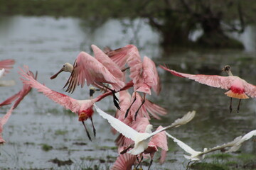
<svg viewBox="0 0 256 170">
<path fill-rule="evenodd" d="M 144 94 L 142 105 L 145 102 L 146 94 L 151 95 L 151 88 L 156 94 L 159 94 L 161 91 L 161 84 L 156 70 L 156 64 L 146 56 L 142 62 L 139 50 L 135 45 L 127 45 L 117 50 L 107 52 L 107 55 L 116 62 L 122 70 L 127 69 L 124 67 L 126 63 L 128 64 L 128 68 L 130 69 L 129 77 L 134 82 L 134 91 L 140 91 Z M 134 101 L 135 100 L 136 98 L 134 98 Z M 142 105 L 138 108 L 138 111 Z M 125 116 L 127 116 L 131 106 L 127 109 Z M 135 113 L 135 119 L 138 111 Z"/>
</svg>

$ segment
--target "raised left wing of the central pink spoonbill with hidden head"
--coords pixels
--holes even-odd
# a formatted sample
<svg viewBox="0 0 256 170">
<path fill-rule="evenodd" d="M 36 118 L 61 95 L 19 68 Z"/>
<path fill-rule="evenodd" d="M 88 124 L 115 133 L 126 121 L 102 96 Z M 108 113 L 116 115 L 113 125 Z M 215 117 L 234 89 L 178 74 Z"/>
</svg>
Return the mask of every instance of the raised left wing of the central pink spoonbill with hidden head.
<svg viewBox="0 0 256 170">
<path fill-rule="evenodd" d="M 137 47 L 134 45 L 126 45 L 125 47 L 106 52 L 106 54 L 119 66 L 120 69 L 125 69 L 125 64 L 129 57 L 129 51 L 136 49 Z"/>
</svg>

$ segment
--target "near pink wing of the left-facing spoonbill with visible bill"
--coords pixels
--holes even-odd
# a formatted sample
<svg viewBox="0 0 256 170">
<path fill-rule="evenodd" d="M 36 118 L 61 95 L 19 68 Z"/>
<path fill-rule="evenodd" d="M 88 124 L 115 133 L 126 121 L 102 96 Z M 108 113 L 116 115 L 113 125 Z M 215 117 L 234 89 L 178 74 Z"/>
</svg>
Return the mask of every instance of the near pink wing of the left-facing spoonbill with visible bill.
<svg viewBox="0 0 256 170">
<path fill-rule="evenodd" d="M 68 86 L 66 91 L 73 92 L 76 86 L 97 83 L 112 84 L 114 90 L 118 91 L 124 86 L 124 82 L 115 78 L 107 68 L 104 67 L 99 61 L 97 61 L 91 55 L 86 52 L 80 52 L 74 63 L 73 72 L 70 75 L 65 86 Z M 64 87 L 65 87 L 64 86 Z"/>
</svg>

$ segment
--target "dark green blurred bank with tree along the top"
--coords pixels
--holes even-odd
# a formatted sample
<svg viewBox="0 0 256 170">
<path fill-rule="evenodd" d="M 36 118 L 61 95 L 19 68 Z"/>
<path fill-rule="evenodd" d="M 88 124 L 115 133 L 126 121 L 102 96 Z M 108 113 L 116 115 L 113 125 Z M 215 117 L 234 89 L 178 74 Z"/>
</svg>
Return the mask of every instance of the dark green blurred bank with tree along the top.
<svg viewBox="0 0 256 170">
<path fill-rule="evenodd" d="M 164 47 L 194 45 L 188 37 L 200 28 L 203 35 L 197 45 L 240 49 L 242 44 L 226 33 L 242 33 L 248 23 L 255 23 L 256 11 L 256 1 L 252 0 L 0 0 L 0 4 L 2 15 L 73 16 L 84 19 L 90 28 L 110 18 L 128 18 L 130 23 L 143 18 L 159 32 Z"/>
</svg>

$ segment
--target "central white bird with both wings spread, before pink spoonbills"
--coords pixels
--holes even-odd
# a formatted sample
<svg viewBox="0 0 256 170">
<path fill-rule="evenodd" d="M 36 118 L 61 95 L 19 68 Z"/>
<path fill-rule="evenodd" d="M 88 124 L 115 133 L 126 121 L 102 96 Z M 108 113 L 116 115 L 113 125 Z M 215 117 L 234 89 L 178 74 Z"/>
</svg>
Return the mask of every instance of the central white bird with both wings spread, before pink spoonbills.
<svg viewBox="0 0 256 170">
<path fill-rule="evenodd" d="M 149 142 L 151 140 L 151 137 L 156 135 L 159 132 L 162 132 L 169 128 L 176 128 L 180 125 L 184 125 L 188 123 L 190 120 L 193 119 L 196 112 L 188 112 L 186 115 L 183 116 L 183 118 L 179 118 L 175 120 L 174 123 L 172 123 L 169 126 L 166 126 L 165 128 L 162 128 L 160 130 L 156 130 L 154 132 L 151 132 L 151 129 L 153 128 L 152 125 L 147 125 L 145 132 L 137 132 L 133 128 L 129 127 L 125 123 L 122 123 L 122 121 L 118 120 L 117 118 L 112 117 L 112 115 L 109 115 L 105 113 L 104 111 L 100 110 L 96 105 L 94 105 L 96 108 L 97 113 L 99 113 L 102 118 L 107 119 L 107 121 L 110 123 L 110 125 L 116 129 L 118 132 L 122 133 L 125 137 L 131 139 L 134 141 L 134 148 L 129 150 L 127 153 L 129 154 L 140 154 L 144 152 L 144 150 L 149 147 Z"/>
</svg>

